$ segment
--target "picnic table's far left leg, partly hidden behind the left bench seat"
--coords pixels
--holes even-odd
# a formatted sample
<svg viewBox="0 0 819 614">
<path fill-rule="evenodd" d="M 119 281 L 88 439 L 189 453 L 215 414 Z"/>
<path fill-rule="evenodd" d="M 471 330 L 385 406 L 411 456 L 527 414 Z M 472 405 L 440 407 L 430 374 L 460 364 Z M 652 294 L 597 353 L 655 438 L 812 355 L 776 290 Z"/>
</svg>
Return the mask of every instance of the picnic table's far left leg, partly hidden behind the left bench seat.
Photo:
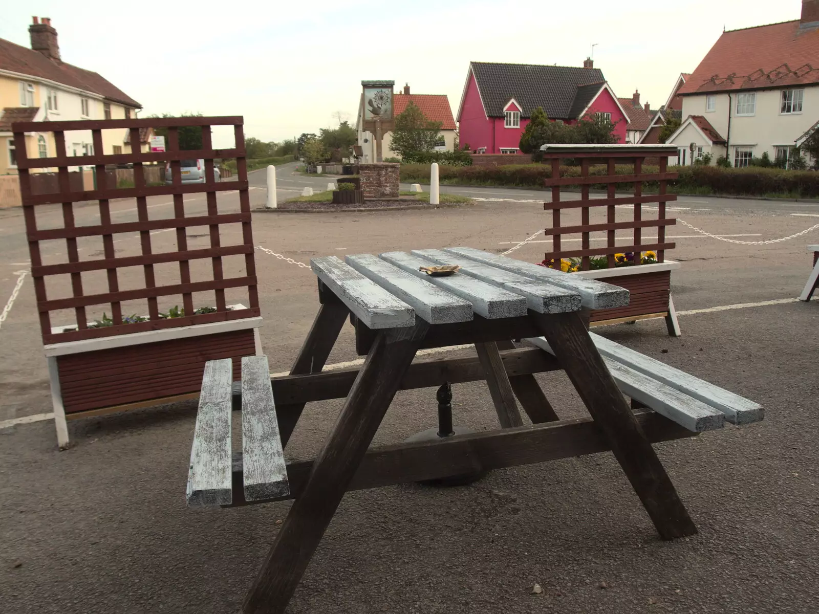
<svg viewBox="0 0 819 614">
<path fill-rule="evenodd" d="M 335 298 L 335 297 L 333 297 Z M 304 345 L 301 346 L 296 362 L 290 369 L 291 375 L 305 375 L 306 373 L 318 373 L 324 368 L 330 351 L 333 350 L 338 338 L 338 333 L 342 332 L 342 327 L 350 312 L 340 300 L 327 300 L 319 307 L 313 326 L 307 334 Z M 301 417 L 301 412 L 305 409 L 305 403 L 293 403 L 279 405 L 276 408 L 278 414 L 278 431 L 282 438 L 282 447 L 287 445 L 287 440 L 296 428 L 296 422 Z"/>
</svg>

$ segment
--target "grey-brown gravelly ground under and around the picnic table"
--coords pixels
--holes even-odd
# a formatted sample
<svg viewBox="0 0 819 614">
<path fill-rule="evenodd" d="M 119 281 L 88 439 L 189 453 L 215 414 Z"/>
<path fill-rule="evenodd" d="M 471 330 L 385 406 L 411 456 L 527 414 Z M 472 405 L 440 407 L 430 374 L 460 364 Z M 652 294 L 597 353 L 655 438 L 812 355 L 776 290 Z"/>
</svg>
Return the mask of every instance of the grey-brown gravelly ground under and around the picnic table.
<svg viewBox="0 0 819 614">
<path fill-rule="evenodd" d="M 713 233 L 761 238 L 812 223 L 742 206 L 690 205 L 680 215 Z M 444 244 L 503 251 L 541 228 L 543 215 L 509 202 L 256 215 L 254 233 L 303 262 Z M 0 212 L 2 300 L 27 259 L 21 228 L 18 212 Z M 157 249 L 172 248 L 171 234 L 154 237 Z M 677 309 L 797 296 L 808 242 L 815 235 L 762 247 L 677 240 Z M 131 255 L 138 242 L 120 247 Z M 515 257 L 540 260 L 542 251 L 532 243 Z M 315 281 L 269 255 L 256 261 L 263 346 L 280 371 L 310 326 Z M 33 294 L 27 282 L 0 330 L 0 420 L 50 410 Z M 656 446 L 699 535 L 658 540 L 611 454 L 495 471 L 458 488 L 358 491 L 343 499 L 288 612 L 817 612 L 819 301 L 684 314 L 681 327 L 677 339 L 662 321 L 602 330 L 767 408 L 764 422 Z M 346 327 L 330 362 L 354 358 Z M 561 417 L 585 415 L 562 373 L 538 378 Z M 431 427 L 434 393 L 399 393 L 375 444 Z M 496 427 L 482 382 L 454 393 L 457 424 Z M 310 404 L 288 457 L 316 454 L 340 407 Z M 186 508 L 194 420 L 193 404 L 177 404 L 70 422 L 74 447 L 62 453 L 52 422 L 0 430 L 0 612 L 238 612 L 289 503 Z"/>
</svg>

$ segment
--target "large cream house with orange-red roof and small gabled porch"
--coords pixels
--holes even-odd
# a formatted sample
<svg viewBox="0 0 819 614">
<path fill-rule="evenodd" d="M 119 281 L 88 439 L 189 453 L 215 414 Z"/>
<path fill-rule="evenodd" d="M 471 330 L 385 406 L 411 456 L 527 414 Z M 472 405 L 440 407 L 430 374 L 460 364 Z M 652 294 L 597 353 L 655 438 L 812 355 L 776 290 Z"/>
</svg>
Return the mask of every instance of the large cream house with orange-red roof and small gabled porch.
<svg viewBox="0 0 819 614">
<path fill-rule="evenodd" d="M 680 88 L 683 121 L 667 140 L 679 162 L 711 154 L 742 167 L 767 153 L 793 164 L 819 119 L 817 59 L 819 0 L 803 0 L 799 20 L 724 32 Z"/>
</svg>

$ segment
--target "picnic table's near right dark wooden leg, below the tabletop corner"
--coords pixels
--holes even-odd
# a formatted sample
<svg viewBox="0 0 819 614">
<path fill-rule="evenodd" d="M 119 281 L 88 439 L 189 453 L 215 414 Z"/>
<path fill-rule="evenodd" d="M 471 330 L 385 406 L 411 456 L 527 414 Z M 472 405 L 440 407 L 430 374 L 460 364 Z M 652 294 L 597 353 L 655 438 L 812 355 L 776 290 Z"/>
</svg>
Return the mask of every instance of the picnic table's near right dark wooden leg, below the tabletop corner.
<svg viewBox="0 0 819 614">
<path fill-rule="evenodd" d="M 614 457 L 626 473 L 663 540 L 694 535 L 697 527 L 645 438 L 609 369 L 576 313 L 530 312 L 555 357 L 566 369 L 591 418 L 604 432 Z"/>
</svg>

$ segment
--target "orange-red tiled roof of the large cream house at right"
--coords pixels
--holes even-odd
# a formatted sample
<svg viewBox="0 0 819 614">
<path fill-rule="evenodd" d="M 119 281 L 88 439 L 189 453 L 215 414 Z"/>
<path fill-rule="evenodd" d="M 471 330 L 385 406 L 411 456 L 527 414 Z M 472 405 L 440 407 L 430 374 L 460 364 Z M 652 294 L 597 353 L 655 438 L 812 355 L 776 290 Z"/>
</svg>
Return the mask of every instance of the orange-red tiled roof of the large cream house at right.
<svg viewBox="0 0 819 614">
<path fill-rule="evenodd" d="M 819 84 L 819 28 L 799 21 L 723 32 L 681 94 Z"/>
</svg>

